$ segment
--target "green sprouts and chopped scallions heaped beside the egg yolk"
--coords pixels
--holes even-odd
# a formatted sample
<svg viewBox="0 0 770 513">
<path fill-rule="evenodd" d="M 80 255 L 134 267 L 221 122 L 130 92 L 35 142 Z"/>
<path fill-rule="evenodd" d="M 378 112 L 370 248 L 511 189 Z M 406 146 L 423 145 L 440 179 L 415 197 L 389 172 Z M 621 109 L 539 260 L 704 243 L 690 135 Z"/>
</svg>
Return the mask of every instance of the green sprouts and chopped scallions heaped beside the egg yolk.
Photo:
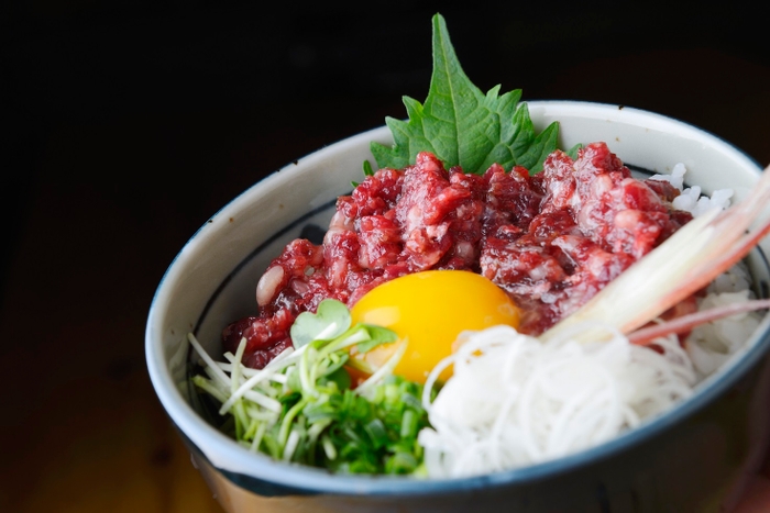
<svg viewBox="0 0 770 513">
<path fill-rule="evenodd" d="M 219 413 L 232 415 L 227 430 L 252 450 L 336 472 L 418 470 L 417 435 L 427 426 L 422 388 L 389 372 L 403 352 L 355 389 L 344 370 L 350 347 L 365 353 L 395 341 L 395 333 L 361 323 L 351 327 L 350 312 L 336 300 L 324 300 L 319 314 L 306 313 L 294 324 L 295 347 L 261 370 L 241 364 L 245 338 L 234 355 L 224 355 L 227 363 L 216 363 L 188 335 L 207 375 L 193 382 L 221 402 Z"/>
</svg>

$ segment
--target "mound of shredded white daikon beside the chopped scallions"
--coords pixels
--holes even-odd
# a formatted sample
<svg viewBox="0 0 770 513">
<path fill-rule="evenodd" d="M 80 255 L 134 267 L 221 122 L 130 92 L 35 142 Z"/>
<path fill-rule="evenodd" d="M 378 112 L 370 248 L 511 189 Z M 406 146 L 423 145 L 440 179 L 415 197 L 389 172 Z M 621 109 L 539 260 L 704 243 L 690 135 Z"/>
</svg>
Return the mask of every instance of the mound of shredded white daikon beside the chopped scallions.
<svg viewBox="0 0 770 513">
<path fill-rule="evenodd" d="M 569 336 L 543 343 L 509 326 L 464 333 L 426 383 L 454 366 L 432 403 L 424 395 L 432 426 L 419 435 L 428 475 L 472 476 L 564 456 L 692 393 L 695 372 L 674 337 L 657 341 L 658 353 L 609 331 L 609 342 L 596 344 Z"/>
</svg>

